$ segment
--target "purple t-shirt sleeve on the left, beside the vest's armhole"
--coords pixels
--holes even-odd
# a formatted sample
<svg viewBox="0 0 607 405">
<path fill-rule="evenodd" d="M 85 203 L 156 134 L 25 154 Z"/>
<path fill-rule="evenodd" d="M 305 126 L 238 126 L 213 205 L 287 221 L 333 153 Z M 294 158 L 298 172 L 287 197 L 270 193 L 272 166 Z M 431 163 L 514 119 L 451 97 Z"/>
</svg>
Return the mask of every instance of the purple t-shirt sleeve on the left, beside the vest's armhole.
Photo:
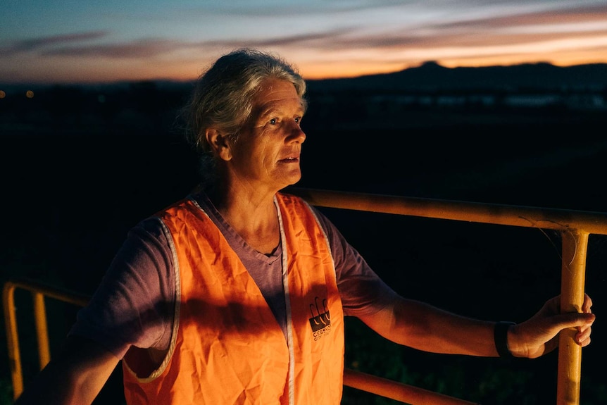
<svg viewBox="0 0 607 405">
<path fill-rule="evenodd" d="M 168 237 L 158 218 L 132 228 L 69 335 L 93 339 L 119 359 L 131 346 L 167 348 L 175 308 Z"/>
</svg>

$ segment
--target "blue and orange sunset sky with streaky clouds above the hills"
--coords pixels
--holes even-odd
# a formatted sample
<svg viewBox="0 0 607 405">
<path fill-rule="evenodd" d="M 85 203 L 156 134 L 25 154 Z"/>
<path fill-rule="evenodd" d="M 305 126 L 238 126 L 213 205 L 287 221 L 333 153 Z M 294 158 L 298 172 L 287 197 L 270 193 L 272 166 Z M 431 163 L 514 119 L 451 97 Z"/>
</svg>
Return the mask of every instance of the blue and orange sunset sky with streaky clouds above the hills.
<svg viewBox="0 0 607 405">
<path fill-rule="evenodd" d="M 4 83 L 191 80 L 241 46 L 308 79 L 607 63 L 607 0 L 1 0 L 0 16 Z"/>
</svg>

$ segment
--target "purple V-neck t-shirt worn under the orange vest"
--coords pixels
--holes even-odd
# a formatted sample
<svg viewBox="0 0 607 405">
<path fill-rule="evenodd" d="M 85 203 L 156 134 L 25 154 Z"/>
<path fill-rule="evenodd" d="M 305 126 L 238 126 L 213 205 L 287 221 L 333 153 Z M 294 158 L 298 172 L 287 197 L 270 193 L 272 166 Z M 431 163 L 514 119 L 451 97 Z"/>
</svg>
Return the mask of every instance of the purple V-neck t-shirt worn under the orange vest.
<svg viewBox="0 0 607 405">
<path fill-rule="evenodd" d="M 282 249 L 266 256 L 225 222 L 206 194 L 194 198 L 218 226 L 255 280 L 278 322 L 286 330 Z M 344 315 L 373 315 L 393 292 L 323 213 L 311 207 L 329 239 Z M 93 339 L 119 359 L 131 346 L 167 349 L 173 330 L 175 266 L 161 220 L 146 218 L 127 235 L 89 305 L 77 314 L 70 335 Z"/>
</svg>

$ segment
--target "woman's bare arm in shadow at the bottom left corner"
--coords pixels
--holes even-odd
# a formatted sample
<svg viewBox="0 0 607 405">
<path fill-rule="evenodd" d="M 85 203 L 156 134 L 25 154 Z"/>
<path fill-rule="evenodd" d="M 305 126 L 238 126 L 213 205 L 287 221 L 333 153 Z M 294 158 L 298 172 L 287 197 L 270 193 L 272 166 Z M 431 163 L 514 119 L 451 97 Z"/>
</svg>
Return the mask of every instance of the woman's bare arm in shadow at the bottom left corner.
<svg viewBox="0 0 607 405">
<path fill-rule="evenodd" d="M 69 337 L 63 352 L 27 385 L 15 405 L 91 404 L 118 361 L 92 340 Z"/>
</svg>

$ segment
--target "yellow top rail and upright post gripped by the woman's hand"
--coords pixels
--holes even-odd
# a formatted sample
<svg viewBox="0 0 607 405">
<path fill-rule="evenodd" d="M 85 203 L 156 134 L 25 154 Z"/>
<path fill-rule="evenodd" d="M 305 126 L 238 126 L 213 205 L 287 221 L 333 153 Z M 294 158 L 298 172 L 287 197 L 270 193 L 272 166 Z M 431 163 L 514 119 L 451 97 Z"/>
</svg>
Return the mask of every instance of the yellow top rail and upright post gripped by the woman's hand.
<svg viewBox="0 0 607 405">
<path fill-rule="evenodd" d="M 582 311 L 589 235 L 607 235 L 607 213 L 320 189 L 292 188 L 289 192 L 303 197 L 314 206 L 327 208 L 558 230 L 563 241 L 561 257 L 561 311 L 563 313 Z M 574 336 L 575 329 L 572 328 L 563 330 L 558 337 L 557 405 L 580 404 L 582 348 L 575 344 Z"/>
</svg>

